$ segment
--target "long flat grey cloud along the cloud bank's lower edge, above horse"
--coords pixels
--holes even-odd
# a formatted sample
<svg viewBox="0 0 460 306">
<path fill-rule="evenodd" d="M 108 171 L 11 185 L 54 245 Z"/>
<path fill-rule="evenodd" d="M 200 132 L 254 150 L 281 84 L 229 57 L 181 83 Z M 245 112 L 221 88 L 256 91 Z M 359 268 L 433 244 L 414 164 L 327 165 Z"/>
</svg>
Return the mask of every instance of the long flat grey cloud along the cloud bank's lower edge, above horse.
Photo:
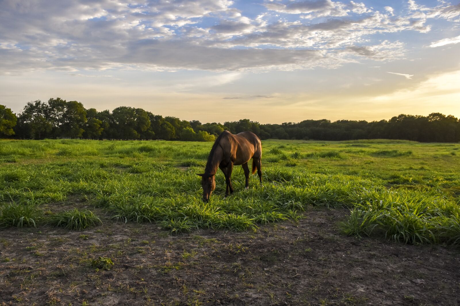
<svg viewBox="0 0 460 306">
<path fill-rule="evenodd" d="M 118 63 L 163 69 L 241 71 L 250 68 L 293 70 L 337 65 L 319 50 L 225 49 L 204 47 L 184 41 L 145 40 L 129 45 Z"/>
</svg>

